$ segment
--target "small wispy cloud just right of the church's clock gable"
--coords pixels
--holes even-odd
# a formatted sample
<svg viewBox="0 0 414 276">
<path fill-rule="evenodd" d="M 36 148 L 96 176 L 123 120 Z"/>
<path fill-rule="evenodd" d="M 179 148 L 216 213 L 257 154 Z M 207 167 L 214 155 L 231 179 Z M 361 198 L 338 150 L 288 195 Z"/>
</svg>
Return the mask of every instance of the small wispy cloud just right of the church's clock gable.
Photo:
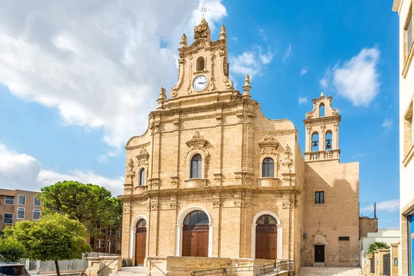
<svg viewBox="0 0 414 276">
<path fill-rule="evenodd" d="M 273 53 L 270 48 L 264 54 L 262 48 L 255 46 L 255 50 L 244 52 L 242 55 L 234 57 L 230 55 L 228 57 L 228 63 L 230 63 L 230 70 L 232 73 L 250 76 L 253 79 L 255 75 L 260 75 L 266 64 L 270 63 L 273 59 Z"/>
</svg>

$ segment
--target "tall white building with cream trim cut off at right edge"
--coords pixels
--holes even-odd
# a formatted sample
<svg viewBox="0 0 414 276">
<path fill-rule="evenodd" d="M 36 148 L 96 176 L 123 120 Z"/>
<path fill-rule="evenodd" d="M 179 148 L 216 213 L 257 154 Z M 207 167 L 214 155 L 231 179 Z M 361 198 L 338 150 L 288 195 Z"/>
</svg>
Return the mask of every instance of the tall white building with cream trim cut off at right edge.
<svg viewBox="0 0 414 276">
<path fill-rule="evenodd" d="M 414 247 L 414 56 L 413 0 L 395 0 L 400 16 L 400 275 L 413 274 Z"/>
</svg>

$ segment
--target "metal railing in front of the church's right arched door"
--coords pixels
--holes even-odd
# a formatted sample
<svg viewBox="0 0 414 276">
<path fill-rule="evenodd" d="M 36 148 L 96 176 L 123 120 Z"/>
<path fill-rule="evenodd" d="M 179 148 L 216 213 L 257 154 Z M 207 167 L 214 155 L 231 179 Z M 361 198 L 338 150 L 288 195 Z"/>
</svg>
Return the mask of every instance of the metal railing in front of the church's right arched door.
<svg viewBox="0 0 414 276">
<path fill-rule="evenodd" d="M 282 262 L 274 262 L 273 264 L 263 264 L 260 266 L 239 266 L 239 267 L 229 267 L 229 268 L 213 268 L 207 270 L 197 270 L 193 271 L 191 276 L 204 276 L 204 275 L 224 275 L 226 276 L 227 273 L 234 274 L 237 272 L 253 272 L 255 275 L 258 272 L 258 275 L 265 275 L 270 271 L 275 271 L 279 275 L 282 272 L 290 272 L 295 270 L 295 261 L 282 261 Z"/>
</svg>

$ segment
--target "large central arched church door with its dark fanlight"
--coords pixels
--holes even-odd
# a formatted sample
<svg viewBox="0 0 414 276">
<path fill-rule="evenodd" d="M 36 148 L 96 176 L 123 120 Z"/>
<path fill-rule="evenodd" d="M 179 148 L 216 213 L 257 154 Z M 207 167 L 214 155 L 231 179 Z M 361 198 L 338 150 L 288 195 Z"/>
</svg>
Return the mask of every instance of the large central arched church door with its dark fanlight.
<svg viewBox="0 0 414 276">
<path fill-rule="evenodd" d="M 208 257 L 208 216 L 193 211 L 184 218 L 183 256 Z"/>
</svg>

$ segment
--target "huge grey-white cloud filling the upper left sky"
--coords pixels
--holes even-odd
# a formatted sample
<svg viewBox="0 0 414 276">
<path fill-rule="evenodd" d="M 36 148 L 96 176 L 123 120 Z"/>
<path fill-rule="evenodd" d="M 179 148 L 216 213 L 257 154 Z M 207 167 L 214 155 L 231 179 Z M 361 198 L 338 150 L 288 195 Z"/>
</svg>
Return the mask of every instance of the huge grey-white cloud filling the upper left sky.
<svg viewBox="0 0 414 276">
<path fill-rule="evenodd" d="M 108 145 L 124 146 L 146 130 L 159 88 L 175 84 L 176 49 L 183 31 L 193 37 L 199 2 L 6 1 L 0 82 L 21 99 L 57 108 L 64 124 L 101 128 Z M 214 31 L 226 8 L 203 2 Z"/>
</svg>

